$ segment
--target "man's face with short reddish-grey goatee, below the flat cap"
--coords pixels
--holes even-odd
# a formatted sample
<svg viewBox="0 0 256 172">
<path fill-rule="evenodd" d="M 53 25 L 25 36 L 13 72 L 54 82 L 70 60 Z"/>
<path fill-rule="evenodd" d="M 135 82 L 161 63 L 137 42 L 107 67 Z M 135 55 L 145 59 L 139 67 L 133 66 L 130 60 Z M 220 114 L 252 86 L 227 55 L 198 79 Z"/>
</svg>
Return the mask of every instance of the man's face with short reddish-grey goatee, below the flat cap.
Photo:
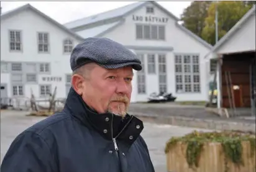
<svg viewBox="0 0 256 172">
<path fill-rule="evenodd" d="M 83 100 L 98 113 L 124 117 L 132 93 L 132 67 L 107 70 L 96 65 L 81 87 Z"/>
</svg>

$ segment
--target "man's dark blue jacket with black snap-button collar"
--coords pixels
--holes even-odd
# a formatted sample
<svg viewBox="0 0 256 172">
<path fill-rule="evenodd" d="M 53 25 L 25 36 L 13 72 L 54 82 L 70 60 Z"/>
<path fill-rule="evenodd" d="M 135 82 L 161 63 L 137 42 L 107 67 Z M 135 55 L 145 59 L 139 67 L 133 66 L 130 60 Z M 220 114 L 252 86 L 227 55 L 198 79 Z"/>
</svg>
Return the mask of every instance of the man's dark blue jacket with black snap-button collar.
<svg viewBox="0 0 256 172">
<path fill-rule="evenodd" d="M 62 112 L 18 135 L 1 172 L 154 172 L 141 120 L 97 114 L 73 88 Z"/>
</svg>

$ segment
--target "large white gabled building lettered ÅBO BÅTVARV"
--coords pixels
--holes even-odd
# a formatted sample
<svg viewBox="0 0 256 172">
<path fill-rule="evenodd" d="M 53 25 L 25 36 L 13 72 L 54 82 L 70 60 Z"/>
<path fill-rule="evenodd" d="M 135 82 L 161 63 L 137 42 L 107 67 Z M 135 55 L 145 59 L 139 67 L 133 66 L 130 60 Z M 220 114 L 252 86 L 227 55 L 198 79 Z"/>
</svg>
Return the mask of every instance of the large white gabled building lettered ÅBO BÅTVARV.
<svg viewBox="0 0 256 172">
<path fill-rule="evenodd" d="M 204 56 L 211 45 L 178 24 L 154 1 L 140 1 L 65 24 L 81 37 L 107 37 L 134 51 L 143 70 L 134 71 L 132 101 L 168 92 L 176 101 L 207 101 Z"/>
</svg>

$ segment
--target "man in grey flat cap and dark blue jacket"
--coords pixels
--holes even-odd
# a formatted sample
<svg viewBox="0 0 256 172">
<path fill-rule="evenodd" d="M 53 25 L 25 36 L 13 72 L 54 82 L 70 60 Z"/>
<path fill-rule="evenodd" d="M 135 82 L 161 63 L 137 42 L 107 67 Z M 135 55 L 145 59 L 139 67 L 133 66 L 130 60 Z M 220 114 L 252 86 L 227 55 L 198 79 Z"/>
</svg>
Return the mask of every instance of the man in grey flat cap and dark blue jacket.
<svg viewBox="0 0 256 172">
<path fill-rule="evenodd" d="M 143 123 L 127 114 L 140 64 L 117 42 L 86 38 L 71 53 L 63 111 L 17 136 L 1 172 L 153 172 Z"/>
</svg>

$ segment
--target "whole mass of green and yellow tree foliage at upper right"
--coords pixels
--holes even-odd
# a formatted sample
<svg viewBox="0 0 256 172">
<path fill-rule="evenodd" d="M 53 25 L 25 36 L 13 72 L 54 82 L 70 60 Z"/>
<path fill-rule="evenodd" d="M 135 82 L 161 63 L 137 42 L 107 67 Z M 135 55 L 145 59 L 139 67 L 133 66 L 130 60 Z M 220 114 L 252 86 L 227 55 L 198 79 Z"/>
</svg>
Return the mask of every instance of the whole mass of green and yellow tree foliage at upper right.
<svg viewBox="0 0 256 172">
<path fill-rule="evenodd" d="M 218 11 L 218 40 L 222 38 L 256 1 L 193 1 L 181 14 L 183 26 L 214 45 L 215 12 Z"/>
</svg>

